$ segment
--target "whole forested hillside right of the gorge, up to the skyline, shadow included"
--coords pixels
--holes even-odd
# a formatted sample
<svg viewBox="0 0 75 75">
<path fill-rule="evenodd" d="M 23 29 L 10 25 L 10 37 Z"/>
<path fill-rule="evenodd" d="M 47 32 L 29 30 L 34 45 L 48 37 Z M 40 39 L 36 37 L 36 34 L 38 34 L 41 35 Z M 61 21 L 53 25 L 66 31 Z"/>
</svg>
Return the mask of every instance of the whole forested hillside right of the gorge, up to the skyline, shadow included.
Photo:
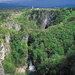
<svg viewBox="0 0 75 75">
<path fill-rule="evenodd" d="M 29 53 L 41 75 L 74 75 L 75 11 L 62 10 L 51 21 L 55 26 L 30 33 Z"/>
</svg>

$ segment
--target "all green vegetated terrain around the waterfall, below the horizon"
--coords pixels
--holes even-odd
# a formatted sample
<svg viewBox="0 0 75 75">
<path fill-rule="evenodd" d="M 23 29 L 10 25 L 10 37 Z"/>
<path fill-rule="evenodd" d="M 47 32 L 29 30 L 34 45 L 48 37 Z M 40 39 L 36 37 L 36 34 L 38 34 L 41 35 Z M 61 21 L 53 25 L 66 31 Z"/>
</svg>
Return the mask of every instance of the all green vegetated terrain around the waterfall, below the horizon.
<svg viewBox="0 0 75 75">
<path fill-rule="evenodd" d="M 6 10 L 0 12 L 5 75 L 26 75 L 16 69 L 28 65 L 28 56 L 38 75 L 75 75 L 75 8 Z"/>
</svg>

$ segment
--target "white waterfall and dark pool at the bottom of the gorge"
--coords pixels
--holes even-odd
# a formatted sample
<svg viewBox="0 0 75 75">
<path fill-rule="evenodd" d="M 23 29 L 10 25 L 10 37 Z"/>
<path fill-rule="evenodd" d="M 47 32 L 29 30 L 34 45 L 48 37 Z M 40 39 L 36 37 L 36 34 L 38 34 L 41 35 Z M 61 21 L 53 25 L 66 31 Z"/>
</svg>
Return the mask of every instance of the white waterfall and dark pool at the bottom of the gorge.
<svg viewBox="0 0 75 75">
<path fill-rule="evenodd" d="M 32 64 L 32 60 L 29 60 L 29 67 L 27 69 L 27 75 L 38 75 L 35 66 Z"/>
</svg>

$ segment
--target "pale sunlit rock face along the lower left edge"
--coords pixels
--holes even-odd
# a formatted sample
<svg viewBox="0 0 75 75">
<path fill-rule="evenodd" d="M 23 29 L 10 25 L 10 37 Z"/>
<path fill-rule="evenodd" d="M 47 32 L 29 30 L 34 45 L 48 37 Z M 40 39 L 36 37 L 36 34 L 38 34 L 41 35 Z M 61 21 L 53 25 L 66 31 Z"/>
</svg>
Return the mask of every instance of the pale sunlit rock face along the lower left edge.
<svg viewBox="0 0 75 75">
<path fill-rule="evenodd" d="M 4 40 L 6 41 L 6 43 L 4 43 Z M 5 56 L 8 53 L 10 53 L 10 45 L 9 45 L 10 36 L 6 35 L 4 40 L 2 39 L 0 43 L 0 75 L 5 75 L 2 61 L 5 59 Z"/>
</svg>

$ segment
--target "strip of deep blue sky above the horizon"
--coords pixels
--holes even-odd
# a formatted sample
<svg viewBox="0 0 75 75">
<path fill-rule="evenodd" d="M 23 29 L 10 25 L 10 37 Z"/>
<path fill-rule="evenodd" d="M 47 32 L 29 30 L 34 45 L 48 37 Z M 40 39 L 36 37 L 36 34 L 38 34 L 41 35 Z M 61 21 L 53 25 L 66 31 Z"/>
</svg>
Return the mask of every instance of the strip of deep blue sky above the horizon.
<svg viewBox="0 0 75 75">
<path fill-rule="evenodd" d="M 0 3 L 17 4 L 21 6 L 55 7 L 75 5 L 75 0 L 0 0 Z"/>
</svg>

